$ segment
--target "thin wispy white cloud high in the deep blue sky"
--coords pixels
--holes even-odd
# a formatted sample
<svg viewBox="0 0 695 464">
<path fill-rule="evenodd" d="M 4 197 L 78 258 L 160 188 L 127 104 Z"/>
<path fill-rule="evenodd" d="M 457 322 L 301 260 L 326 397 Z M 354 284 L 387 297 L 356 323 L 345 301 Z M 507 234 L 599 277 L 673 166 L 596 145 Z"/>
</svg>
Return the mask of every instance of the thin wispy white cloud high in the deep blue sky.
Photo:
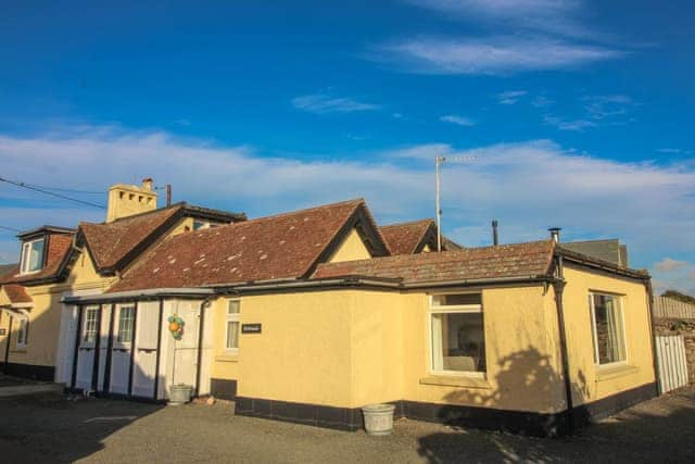
<svg viewBox="0 0 695 464">
<path fill-rule="evenodd" d="M 417 38 L 383 46 L 376 59 L 421 74 L 508 75 L 564 70 L 620 58 L 602 46 L 544 37 Z"/>
</svg>

